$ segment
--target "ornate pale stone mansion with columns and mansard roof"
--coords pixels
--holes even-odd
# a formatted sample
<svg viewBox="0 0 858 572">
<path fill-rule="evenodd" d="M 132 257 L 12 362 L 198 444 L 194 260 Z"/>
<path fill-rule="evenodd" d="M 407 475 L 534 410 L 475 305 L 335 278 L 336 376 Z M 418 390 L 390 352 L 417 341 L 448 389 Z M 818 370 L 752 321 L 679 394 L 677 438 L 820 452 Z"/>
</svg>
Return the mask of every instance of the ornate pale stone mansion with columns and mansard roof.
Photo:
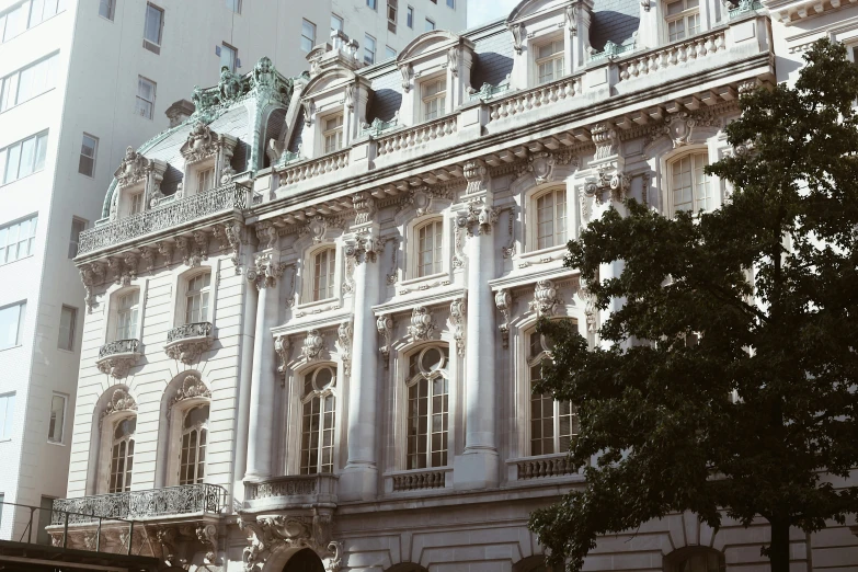
<svg viewBox="0 0 858 572">
<path fill-rule="evenodd" d="M 298 78 L 263 58 L 128 149 L 76 259 L 55 506 L 138 524 L 58 518 L 55 542 L 191 570 L 545 570 L 529 512 L 582 477 L 574 411 L 530 391 L 534 329 L 597 344 L 604 319 L 565 241 L 625 197 L 729 199 L 702 168 L 733 152 L 742 90 L 776 80 L 758 4 L 598 3 L 525 0 L 373 68 L 344 37 Z M 767 534 L 671 515 L 587 568 L 765 570 Z M 796 571 L 855 564 L 848 527 L 793 542 Z"/>
</svg>

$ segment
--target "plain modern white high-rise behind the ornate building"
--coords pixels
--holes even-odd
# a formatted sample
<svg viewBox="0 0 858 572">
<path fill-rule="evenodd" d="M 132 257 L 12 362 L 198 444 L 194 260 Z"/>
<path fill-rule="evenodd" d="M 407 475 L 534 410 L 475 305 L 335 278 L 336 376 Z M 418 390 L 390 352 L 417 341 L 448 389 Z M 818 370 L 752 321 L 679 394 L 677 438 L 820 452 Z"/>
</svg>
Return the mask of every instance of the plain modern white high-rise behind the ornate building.
<svg viewBox="0 0 858 572">
<path fill-rule="evenodd" d="M 126 148 L 165 129 L 168 108 L 195 84 L 216 83 L 222 66 L 244 72 L 267 55 L 298 75 L 332 26 L 357 42 L 362 60 L 380 61 L 427 25 L 465 22 L 465 0 L 0 0 L 5 502 L 49 505 L 66 494 L 87 343 L 84 290 L 70 259 L 79 232 L 100 218 Z M 185 102 L 170 115 L 192 111 Z M 12 536 L 11 514 L 0 538 Z"/>
</svg>

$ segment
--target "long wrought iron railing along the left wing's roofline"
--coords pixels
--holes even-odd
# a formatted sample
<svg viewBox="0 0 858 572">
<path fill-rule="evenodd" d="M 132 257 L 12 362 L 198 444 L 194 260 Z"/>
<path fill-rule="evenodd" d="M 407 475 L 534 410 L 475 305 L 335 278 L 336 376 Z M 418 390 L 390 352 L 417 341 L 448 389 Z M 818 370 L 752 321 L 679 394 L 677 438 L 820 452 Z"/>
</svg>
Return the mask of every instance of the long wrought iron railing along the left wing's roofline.
<svg viewBox="0 0 858 572">
<path fill-rule="evenodd" d="M 99 225 L 80 233 L 78 255 L 171 229 L 184 222 L 245 209 L 250 207 L 250 188 L 243 185 L 229 183 L 207 193 L 161 203 L 150 210 Z"/>
</svg>

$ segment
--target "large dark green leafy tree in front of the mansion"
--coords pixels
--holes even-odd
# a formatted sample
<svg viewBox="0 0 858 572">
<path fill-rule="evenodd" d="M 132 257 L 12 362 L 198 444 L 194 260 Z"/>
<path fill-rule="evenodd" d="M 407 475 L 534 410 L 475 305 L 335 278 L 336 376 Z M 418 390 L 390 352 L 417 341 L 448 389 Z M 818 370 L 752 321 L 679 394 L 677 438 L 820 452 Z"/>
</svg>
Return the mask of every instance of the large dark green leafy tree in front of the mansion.
<svg viewBox="0 0 858 572">
<path fill-rule="evenodd" d="M 762 516 L 788 572 L 790 527 L 858 512 L 837 479 L 858 466 L 858 69 L 828 41 L 804 59 L 794 88 L 741 98 L 727 133 L 748 150 L 707 168 L 734 187 L 724 206 L 666 218 L 627 201 L 569 243 L 596 306 L 626 301 L 593 348 L 539 327 L 556 347 L 536 391 L 577 408 L 586 476 L 530 517 L 552 564 L 577 571 L 597 535 L 691 511 L 716 528 Z"/>
</svg>

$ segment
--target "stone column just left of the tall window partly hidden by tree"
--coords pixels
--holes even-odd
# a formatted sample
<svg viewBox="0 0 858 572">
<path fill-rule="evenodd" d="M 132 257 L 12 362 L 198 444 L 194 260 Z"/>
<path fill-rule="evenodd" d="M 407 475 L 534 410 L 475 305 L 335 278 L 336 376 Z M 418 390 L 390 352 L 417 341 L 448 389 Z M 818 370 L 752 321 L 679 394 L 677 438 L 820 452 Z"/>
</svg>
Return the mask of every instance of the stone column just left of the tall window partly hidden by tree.
<svg viewBox="0 0 858 572">
<path fill-rule="evenodd" d="M 456 224 L 468 234 L 468 306 L 465 348 L 465 451 L 454 462 L 454 487 L 488 489 L 499 483 L 495 436 L 494 277 L 492 226 L 497 213 L 491 205 L 489 170 L 481 161 L 465 165 L 468 209 Z"/>
</svg>

